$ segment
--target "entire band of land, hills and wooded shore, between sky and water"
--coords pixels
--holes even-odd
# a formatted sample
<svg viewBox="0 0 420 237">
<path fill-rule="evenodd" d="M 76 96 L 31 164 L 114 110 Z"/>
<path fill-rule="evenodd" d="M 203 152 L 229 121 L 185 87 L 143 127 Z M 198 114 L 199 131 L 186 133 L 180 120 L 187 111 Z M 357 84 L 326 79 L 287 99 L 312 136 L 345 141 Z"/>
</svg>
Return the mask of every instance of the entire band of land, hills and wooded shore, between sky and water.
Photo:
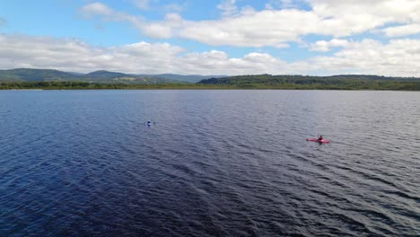
<svg viewBox="0 0 420 237">
<path fill-rule="evenodd" d="M 164 75 L 160 75 L 164 76 Z M 182 75 L 180 78 L 185 79 Z M 420 78 L 378 75 L 237 75 L 180 83 L 156 75 L 97 71 L 74 74 L 57 70 L 0 71 L 0 90 L 10 89 L 283 89 L 420 91 Z"/>
</svg>

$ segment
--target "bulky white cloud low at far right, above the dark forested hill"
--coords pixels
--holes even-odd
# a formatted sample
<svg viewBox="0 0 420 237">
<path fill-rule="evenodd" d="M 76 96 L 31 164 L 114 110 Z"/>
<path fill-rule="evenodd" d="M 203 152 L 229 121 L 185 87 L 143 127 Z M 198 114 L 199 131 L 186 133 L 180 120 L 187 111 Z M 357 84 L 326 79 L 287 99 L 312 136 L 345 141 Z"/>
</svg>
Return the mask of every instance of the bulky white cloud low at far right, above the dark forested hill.
<svg viewBox="0 0 420 237">
<path fill-rule="evenodd" d="M 347 42 L 343 50 L 331 57 L 312 57 L 294 66 L 325 74 L 420 76 L 420 40 L 377 40 Z"/>
</svg>

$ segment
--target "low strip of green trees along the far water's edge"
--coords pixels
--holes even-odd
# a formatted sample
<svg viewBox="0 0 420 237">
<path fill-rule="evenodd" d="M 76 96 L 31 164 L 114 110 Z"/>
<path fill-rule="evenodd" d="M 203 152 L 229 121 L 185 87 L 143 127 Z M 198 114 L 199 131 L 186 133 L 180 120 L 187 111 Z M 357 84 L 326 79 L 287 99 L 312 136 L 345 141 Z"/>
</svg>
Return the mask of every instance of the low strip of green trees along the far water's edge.
<svg viewBox="0 0 420 237">
<path fill-rule="evenodd" d="M 420 82 L 401 81 L 299 81 L 284 83 L 83 83 L 13 82 L 0 83 L 0 90 L 146 90 L 146 89 L 278 89 L 278 90 L 390 90 L 420 91 Z"/>
</svg>

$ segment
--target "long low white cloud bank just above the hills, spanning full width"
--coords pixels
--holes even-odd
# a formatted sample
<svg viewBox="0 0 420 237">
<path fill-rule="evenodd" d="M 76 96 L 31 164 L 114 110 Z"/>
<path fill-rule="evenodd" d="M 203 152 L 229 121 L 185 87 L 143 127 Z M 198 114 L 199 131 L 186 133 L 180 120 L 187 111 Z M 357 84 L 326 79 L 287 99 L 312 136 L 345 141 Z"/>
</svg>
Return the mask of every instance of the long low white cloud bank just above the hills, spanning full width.
<svg viewBox="0 0 420 237">
<path fill-rule="evenodd" d="M 82 40 L 0 34 L 0 68 L 51 68 L 74 72 L 105 69 L 134 74 L 256 75 L 372 74 L 420 76 L 420 40 L 334 41 L 330 57 L 286 62 L 267 53 L 230 57 L 210 50 L 188 52 L 168 43 L 97 47 Z"/>
</svg>

